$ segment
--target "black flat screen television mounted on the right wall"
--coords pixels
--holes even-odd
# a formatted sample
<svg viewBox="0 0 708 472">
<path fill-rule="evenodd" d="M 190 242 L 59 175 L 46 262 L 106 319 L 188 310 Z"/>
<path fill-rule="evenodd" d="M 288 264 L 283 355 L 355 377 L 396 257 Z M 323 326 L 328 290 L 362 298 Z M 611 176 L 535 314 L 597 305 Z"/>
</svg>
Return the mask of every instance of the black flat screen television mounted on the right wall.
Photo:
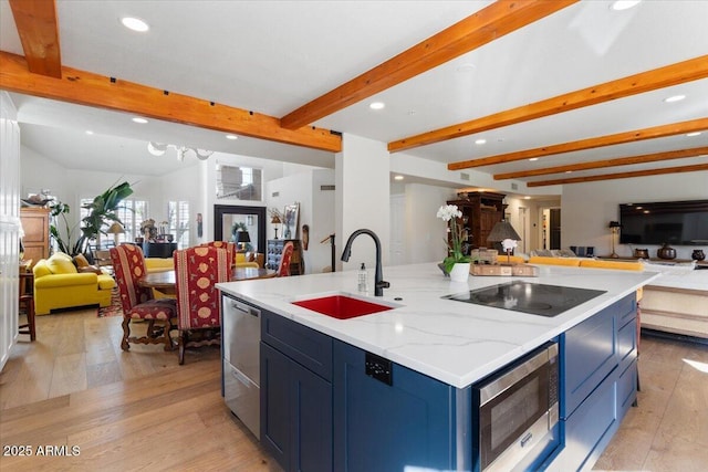
<svg viewBox="0 0 708 472">
<path fill-rule="evenodd" d="M 620 206 L 622 244 L 708 244 L 708 200 Z"/>
</svg>

